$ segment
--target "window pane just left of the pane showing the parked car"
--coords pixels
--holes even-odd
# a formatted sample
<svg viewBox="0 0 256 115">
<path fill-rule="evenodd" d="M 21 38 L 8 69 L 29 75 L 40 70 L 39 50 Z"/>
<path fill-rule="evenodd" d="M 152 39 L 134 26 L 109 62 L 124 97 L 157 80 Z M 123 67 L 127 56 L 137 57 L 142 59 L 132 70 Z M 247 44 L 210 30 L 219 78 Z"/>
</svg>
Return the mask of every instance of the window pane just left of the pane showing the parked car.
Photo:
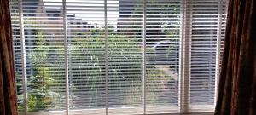
<svg viewBox="0 0 256 115">
<path fill-rule="evenodd" d="M 109 0 L 107 12 L 109 113 L 143 113 L 143 0 Z"/>
</svg>

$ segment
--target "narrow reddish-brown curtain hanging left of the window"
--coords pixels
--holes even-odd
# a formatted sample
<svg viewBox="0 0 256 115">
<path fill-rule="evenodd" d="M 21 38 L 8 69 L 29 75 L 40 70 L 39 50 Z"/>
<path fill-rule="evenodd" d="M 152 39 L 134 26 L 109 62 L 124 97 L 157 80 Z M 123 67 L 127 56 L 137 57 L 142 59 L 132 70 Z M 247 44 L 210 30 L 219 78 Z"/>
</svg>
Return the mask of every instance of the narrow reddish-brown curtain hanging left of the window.
<svg viewBox="0 0 256 115">
<path fill-rule="evenodd" d="M 0 115 L 17 115 L 9 0 L 0 0 Z"/>
</svg>

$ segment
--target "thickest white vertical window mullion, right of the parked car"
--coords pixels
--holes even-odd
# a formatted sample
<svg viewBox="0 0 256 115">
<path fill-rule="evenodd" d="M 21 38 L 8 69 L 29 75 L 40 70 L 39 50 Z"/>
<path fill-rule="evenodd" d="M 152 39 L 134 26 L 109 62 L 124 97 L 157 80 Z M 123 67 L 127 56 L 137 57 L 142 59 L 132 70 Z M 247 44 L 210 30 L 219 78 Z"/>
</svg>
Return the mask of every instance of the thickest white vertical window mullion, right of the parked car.
<svg viewBox="0 0 256 115">
<path fill-rule="evenodd" d="M 181 72 L 179 104 L 180 112 L 189 112 L 189 77 L 191 58 L 191 0 L 183 0 L 183 23 L 182 23 L 182 44 L 181 44 Z"/>
</svg>

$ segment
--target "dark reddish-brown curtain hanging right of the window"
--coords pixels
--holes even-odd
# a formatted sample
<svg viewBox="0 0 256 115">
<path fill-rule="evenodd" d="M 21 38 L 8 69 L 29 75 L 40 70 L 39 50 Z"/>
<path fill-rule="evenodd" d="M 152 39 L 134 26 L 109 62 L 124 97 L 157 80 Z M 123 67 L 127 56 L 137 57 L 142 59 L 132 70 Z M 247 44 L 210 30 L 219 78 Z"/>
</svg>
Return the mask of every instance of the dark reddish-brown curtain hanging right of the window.
<svg viewBox="0 0 256 115">
<path fill-rule="evenodd" d="M 215 115 L 256 115 L 256 1 L 230 0 Z"/>
</svg>

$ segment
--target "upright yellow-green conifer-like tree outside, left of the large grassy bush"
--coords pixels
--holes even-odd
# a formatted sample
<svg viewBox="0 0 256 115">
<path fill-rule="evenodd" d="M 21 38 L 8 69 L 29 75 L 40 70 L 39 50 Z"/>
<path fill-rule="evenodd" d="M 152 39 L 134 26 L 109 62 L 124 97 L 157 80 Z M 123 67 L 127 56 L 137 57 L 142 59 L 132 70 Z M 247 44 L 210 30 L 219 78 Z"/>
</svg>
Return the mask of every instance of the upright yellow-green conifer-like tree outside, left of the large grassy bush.
<svg viewBox="0 0 256 115">
<path fill-rule="evenodd" d="M 56 73 L 59 72 L 59 69 L 54 69 L 52 66 L 58 66 L 57 62 L 64 61 L 61 58 L 63 53 L 56 53 L 58 49 L 56 49 L 57 51 L 50 49 L 44 32 L 40 30 L 34 30 L 34 32 L 37 32 L 34 36 L 35 43 L 32 44 L 35 47 L 28 54 L 32 63 L 32 76 L 28 78 L 27 107 L 29 112 L 53 109 L 58 106 L 53 103 L 56 100 L 59 101 L 60 95 L 50 88 L 53 84 L 58 84 L 55 78 L 57 78 Z"/>
</svg>

